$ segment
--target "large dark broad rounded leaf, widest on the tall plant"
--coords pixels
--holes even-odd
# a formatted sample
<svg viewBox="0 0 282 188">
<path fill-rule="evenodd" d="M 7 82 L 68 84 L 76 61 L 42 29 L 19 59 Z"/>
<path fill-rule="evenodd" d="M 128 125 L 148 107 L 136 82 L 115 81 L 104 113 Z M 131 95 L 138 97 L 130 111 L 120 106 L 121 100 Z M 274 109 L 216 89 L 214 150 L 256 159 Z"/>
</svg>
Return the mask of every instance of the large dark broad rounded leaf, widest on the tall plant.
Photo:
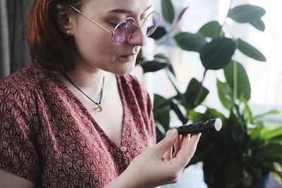
<svg viewBox="0 0 282 188">
<path fill-rule="evenodd" d="M 200 50 L 202 65 L 206 70 L 224 68 L 235 52 L 235 42 L 226 37 L 213 39 Z"/>
</svg>

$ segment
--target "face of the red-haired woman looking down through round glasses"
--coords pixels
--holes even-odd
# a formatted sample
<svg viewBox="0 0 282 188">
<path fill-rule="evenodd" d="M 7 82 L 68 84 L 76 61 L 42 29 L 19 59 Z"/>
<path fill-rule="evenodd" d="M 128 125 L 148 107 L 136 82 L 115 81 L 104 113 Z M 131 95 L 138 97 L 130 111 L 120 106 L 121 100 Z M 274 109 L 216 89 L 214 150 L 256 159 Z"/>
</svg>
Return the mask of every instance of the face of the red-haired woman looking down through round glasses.
<svg viewBox="0 0 282 188">
<path fill-rule="evenodd" d="M 132 17 L 137 25 L 150 13 L 152 0 L 91 0 L 82 4 L 80 11 L 97 23 L 112 31 L 117 23 Z M 75 11 L 74 11 L 75 13 Z M 79 13 L 74 16 L 72 29 L 75 48 L 75 65 L 87 70 L 99 69 L 124 75 L 134 66 L 140 46 L 146 44 L 145 33 L 136 28 L 133 35 L 120 45 L 111 42 L 111 34 Z"/>
</svg>

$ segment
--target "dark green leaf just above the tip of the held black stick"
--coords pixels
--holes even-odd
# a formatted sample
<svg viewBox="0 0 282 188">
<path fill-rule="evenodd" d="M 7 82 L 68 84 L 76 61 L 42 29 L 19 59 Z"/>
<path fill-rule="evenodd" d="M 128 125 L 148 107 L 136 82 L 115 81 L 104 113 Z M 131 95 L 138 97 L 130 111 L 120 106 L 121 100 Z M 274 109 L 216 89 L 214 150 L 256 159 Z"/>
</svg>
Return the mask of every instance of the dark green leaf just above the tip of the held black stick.
<svg viewBox="0 0 282 188">
<path fill-rule="evenodd" d="M 209 90 L 205 87 L 202 87 L 202 92 L 200 92 L 199 101 L 197 102 L 197 104 L 193 104 L 196 99 L 196 95 L 199 87 L 200 87 L 200 82 L 195 78 L 192 78 L 184 94 L 188 109 L 195 108 L 196 106 L 201 104 L 202 101 L 204 101 L 204 99 L 207 97 L 207 94 L 209 94 Z"/>
</svg>

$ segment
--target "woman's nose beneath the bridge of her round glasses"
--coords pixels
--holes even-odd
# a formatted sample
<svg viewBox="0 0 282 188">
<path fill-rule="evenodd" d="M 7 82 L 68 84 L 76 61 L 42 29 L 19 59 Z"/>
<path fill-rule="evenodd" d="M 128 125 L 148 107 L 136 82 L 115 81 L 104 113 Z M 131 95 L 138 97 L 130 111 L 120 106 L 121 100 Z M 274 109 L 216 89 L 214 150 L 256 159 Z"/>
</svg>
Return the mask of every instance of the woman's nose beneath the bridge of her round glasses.
<svg viewBox="0 0 282 188">
<path fill-rule="evenodd" d="M 147 44 L 146 31 L 142 27 L 135 27 L 133 34 L 128 39 L 128 44 L 136 46 L 145 46 Z"/>
</svg>

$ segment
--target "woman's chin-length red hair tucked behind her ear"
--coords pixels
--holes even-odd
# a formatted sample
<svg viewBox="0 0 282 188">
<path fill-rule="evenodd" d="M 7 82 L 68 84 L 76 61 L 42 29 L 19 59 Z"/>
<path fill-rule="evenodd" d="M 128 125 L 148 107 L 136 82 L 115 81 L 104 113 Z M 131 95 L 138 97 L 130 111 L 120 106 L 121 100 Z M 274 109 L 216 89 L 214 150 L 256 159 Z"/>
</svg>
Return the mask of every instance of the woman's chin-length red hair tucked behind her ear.
<svg viewBox="0 0 282 188">
<path fill-rule="evenodd" d="M 57 25 L 58 4 L 79 9 L 82 0 L 34 0 L 26 27 L 27 46 L 34 63 L 49 70 L 70 70 L 74 68 L 67 45 L 71 37 L 61 32 Z"/>
</svg>

